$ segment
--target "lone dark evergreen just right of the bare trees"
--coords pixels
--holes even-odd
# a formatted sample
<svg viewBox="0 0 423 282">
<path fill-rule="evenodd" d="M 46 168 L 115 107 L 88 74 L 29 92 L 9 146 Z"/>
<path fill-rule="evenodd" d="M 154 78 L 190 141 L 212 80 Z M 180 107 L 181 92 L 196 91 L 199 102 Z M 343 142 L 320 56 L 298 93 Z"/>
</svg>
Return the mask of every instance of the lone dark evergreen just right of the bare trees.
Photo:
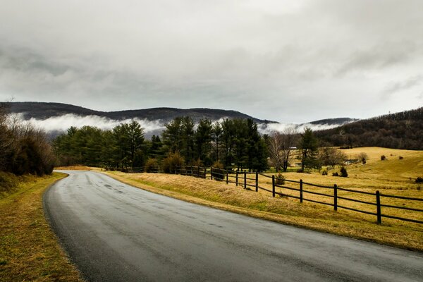
<svg viewBox="0 0 423 282">
<path fill-rule="evenodd" d="M 317 159 L 317 150 L 319 149 L 319 140 L 314 136 L 311 128 L 305 128 L 301 135 L 301 140 L 298 145 L 301 154 L 301 169 L 305 168 L 320 168 Z"/>
</svg>

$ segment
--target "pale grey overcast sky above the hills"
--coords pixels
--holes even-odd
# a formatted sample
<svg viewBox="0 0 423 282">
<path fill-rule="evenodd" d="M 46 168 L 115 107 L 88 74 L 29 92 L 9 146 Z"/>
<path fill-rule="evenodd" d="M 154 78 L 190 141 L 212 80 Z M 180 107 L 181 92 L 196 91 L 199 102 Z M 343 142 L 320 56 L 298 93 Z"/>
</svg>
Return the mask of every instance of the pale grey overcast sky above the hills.
<svg viewBox="0 0 423 282">
<path fill-rule="evenodd" d="M 423 1 L 0 0 L 0 100 L 307 122 L 423 106 Z"/>
</svg>

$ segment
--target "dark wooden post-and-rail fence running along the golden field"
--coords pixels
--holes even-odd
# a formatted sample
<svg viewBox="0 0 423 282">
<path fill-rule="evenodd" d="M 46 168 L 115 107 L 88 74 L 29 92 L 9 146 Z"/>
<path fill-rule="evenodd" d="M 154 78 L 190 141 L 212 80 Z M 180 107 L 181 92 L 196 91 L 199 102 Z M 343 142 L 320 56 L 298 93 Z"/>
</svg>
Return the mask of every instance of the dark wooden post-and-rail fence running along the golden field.
<svg viewBox="0 0 423 282">
<path fill-rule="evenodd" d="M 126 173 L 142 173 L 143 168 L 128 168 L 121 170 Z M 164 173 L 161 166 L 149 168 L 149 173 Z M 409 221 L 423 224 L 423 198 L 403 197 L 388 195 L 376 192 L 366 192 L 349 188 L 341 188 L 338 185 L 326 186 L 307 183 L 302 180 L 278 181 L 274 175 L 269 176 L 264 173 L 247 171 L 229 171 L 221 168 L 206 168 L 201 166 L 179 166 L 173 170 L 174 174 L 184 176 L 194 176 L 197 178 L 221 180 L 235 185 L 241 185 L 245 189 L 264 190 L 270 192 L 273 197 L 290 197 L 300 202 L 313 202 L 315 204 L 324 204 L 338 209 L 348 209 L 353 212 L 369 214 L 376 216 L 376 223 L 382 223 L 382 218 L 398 219 L 400 221 Z M 309 195 L 314 195 L 311 199 Z M 348 197 L 349 196 L 349 197 Z M 405 200 L 401 206 L 398 200 Z M 391 204 L 394 202 L 394 204 Z M 407 207 L 406 207 L 407 206 Z M 384 210 L 400 210 L 402 216 L 382 213 Z"/>
</svg>

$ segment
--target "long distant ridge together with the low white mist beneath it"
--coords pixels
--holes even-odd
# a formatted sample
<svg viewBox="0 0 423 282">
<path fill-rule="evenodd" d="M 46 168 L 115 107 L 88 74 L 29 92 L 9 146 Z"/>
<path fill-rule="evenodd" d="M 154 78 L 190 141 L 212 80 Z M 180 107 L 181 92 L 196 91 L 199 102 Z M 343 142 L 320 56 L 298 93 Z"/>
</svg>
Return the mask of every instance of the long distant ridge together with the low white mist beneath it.
<svg viewBox="0 0 423 282">
<path fill-rule="evenodd" d="M 63 133 L 71 126 L 92 125 L 102 129 L 110 129 L 121 122 L 136 119 L 145 128 L 145 137 L 149 138 L 152 135 L 160 135 L 164 130 L 165 123 L 172 121 L 177 116 L 190 116 L 195 123 L 198 123 L 201 118 L 209 118 L 211 121 L 218 121 L 221 118 L 252 118 L 259 125 L 259 131 L 262 134 L 271 134 L 274 130 L 281 131 L 288 126 L 301 132 L 305 127 L 321 130 L 355 121 L 352 118 L 331 118 L 310 123 L 285 124 L 254 118 L 238 111 L 221 109 L 154 108 L 128 111 L 94 111 L 81 106 L 61 103 L 9 102 L 6 105 L 12 114 L 17 114 L 21 120 L 30 120 L 38 128 L 46 130 L 52 137 Z"/>
</svg>

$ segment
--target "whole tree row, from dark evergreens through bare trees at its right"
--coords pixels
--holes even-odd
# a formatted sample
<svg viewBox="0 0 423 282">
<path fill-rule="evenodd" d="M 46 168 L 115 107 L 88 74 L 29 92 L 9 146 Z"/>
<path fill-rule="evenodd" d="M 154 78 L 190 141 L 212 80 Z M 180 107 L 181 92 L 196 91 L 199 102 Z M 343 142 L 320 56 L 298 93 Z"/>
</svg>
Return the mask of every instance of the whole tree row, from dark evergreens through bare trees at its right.
<svg viewBox="0 0 423 282">
<path fill-rule="evenodd" d="M 203 118 L 195 125 L 181 116 L 166 123 L 161 135 L 145 139 L 137 121 L 121 123 L 111 130 L 92 126 L 71 127 L 53 141 L 62 166 L 84 164 L 106 168 L 135 168 L 161 165 L 165 171 L 175 166 L 215 166 L 226 169 L 264 171 L 274 166 L 287 171 L 294 159 L 300 171 L 321 166 L 342 165 L 346 155 L 339 149 L 322 146 L 310 128 L 298 133 L 288 128 L 282 133 L 260 135 L 251 119 L 212 122 Z"/>
</svg>

